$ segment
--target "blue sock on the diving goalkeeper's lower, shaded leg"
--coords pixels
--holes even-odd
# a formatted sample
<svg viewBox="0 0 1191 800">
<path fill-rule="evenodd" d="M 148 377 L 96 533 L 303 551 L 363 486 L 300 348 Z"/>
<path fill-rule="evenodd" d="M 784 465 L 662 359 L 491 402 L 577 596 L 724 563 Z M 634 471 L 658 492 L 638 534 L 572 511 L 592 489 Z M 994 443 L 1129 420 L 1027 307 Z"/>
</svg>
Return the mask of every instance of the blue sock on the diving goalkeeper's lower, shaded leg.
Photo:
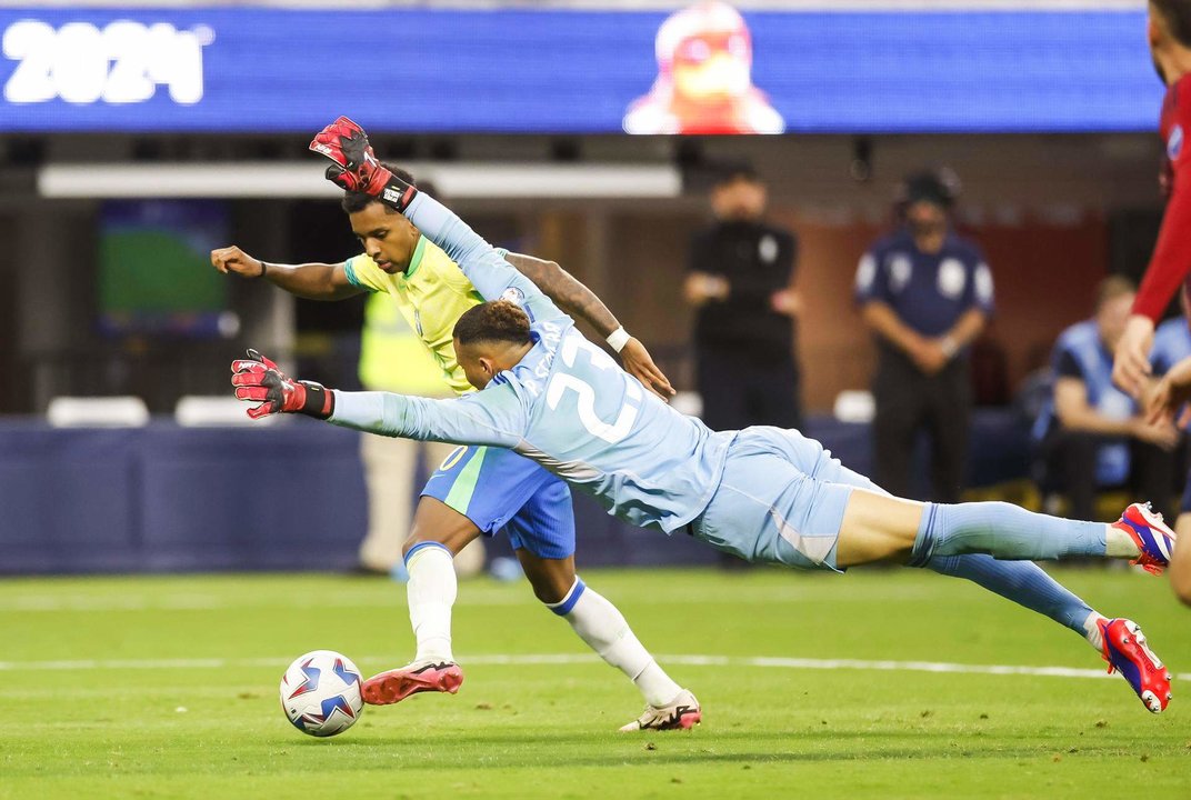
<svg viewBox="0 0 1191 800">
<path fill-rule="evenodd" d="M 1087 636 L 1087 618 L 1095 613 L 1086 602 L 1065 589 L 1033 561 L 997 561 L 984 554 L 934 556 L 927 569 L 940 575 L 966 577 L 1030 611 L 1046 614 L 1080 636 Z"/>
</svg>

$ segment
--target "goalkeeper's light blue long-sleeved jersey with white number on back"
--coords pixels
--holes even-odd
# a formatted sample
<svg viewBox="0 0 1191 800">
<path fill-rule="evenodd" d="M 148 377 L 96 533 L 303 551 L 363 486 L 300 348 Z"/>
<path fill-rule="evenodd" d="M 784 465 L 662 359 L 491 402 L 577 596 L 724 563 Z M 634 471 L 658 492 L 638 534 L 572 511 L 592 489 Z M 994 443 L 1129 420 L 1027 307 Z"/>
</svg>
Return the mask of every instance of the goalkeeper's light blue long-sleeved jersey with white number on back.
<svg viewBox="0 0 1191 800">
<path fill-rule="evenodd" d="M 405 213 L 484 298 L 525 310 L 535 345 L 482 392 L 457 400 L 339 393 L 330 421 L 387 436 L 510 448 L 641 527 L 671 533 L 698 517 L 719 485 L 736 432 L 712 432 L 646 390 L 432 198 L 419 194 Z"/>
</svg>

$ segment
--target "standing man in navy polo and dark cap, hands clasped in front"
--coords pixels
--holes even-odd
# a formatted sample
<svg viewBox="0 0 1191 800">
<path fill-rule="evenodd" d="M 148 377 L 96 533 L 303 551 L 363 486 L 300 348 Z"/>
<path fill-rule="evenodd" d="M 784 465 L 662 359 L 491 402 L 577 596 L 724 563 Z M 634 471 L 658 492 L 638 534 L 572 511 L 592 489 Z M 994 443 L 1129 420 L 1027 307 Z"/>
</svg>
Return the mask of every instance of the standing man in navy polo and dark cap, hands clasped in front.
<svg viewBox="0 0 1191 800">
<path fill-rule="evenodd" d="M 940 502 L 960 499 L 972 411 L 967 345 L 992 313 L 984 255 L 950 230 L 956 187 L 949 171 L 909 176 L 902 227 L 873 244 L 856 270 L 856 302 L 878 349 L 877 482 L 910 496 L 913 444 L 925 430 Z"/>
</svg>

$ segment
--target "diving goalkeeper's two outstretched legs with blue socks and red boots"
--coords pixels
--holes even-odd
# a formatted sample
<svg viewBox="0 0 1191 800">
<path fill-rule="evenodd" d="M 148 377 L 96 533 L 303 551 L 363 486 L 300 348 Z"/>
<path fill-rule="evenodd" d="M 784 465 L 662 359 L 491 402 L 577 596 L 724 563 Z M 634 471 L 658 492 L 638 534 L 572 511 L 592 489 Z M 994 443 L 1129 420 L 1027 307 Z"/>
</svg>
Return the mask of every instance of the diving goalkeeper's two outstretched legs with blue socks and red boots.
<svg viewBox="0 0 1191 800">
<path fill-rule="evenodd" d="M 1141 504 L 1105 525 L 1035 514 L 1002 502 L 923 505 L 853 492 L 840 529 L 836 564 L 846 568 L 892 560 L 968 577 L 1083 633 L 1100 649 L 1109 671 L 1120 671 L 1146 708 L 1159 713 L 1171 700 L 1171 674 L 1147 646 L 1140 626 L 1096 613 L 1031 561 L 1098 555 L 1130 558 L 1159 574 L 1174 540 L 1161 515 Z"/>
</svg>

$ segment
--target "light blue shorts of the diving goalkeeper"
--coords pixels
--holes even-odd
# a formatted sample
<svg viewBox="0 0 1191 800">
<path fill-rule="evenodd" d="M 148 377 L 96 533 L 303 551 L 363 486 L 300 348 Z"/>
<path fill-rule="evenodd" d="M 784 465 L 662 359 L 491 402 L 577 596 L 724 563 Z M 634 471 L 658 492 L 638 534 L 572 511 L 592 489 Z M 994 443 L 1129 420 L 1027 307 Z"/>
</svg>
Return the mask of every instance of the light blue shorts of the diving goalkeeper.
<svg viewBox="0 0 1191 800">
<path fill-rule="evenodd" d="M 885 494 L 798 431 L 747 427 L 691 532 L 746 561 L 838 571 L 840 526 L 855 488 Z"/>
</svg>

